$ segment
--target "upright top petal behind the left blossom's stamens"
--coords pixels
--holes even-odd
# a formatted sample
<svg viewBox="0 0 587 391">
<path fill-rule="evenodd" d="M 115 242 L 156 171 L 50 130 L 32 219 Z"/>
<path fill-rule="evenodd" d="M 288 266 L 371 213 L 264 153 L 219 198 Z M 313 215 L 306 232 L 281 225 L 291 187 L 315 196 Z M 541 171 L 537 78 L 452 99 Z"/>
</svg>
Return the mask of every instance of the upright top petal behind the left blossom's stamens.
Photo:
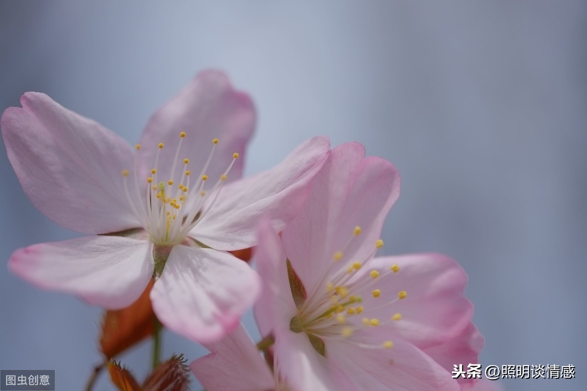
<svg viewBox="0 0 587 391">
<path fill-rule="evenodd" d="M 178 178 L 178 173 L 184 170 L 184 158 L 190 159 L 188 168 L 198 175 L 208 159 L 214 138 L 219 142 L 205 174 L 211 181 L 217 181 L 232 161 L 232 154 L 237 152 L 241 158 L 232 166 L 228 180 L 240 178 L 243 152 L 254 127 L 255 109 L 247 94 L 234 90 L 228 77 L 220 71 L 202 72 L 151 117 L 140 142 L 141 178 L 147 178 L 147 171 L 154 168 L 160 142 L 164 148 L 160 152 L 157 175 L 162 180 Z M 176 175 L 171 175 L 180 132 L 185 132 L 186 136 Z"/>
</svg>

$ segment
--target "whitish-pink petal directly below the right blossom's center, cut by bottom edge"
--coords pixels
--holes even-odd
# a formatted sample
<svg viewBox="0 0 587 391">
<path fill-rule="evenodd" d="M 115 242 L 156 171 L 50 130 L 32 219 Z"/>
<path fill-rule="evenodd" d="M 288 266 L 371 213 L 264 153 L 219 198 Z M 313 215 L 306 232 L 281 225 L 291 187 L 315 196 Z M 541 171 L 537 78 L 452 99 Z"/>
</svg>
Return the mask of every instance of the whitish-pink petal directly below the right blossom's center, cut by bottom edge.
<svg viewBox="0 0 587 391">
<path fill-rule="evenodd" d="M 278 379 L 294 390 L 355 390 L 345 371 L 333 366 L 330 359 L 319 355 L 303 332 L 276 331 L 275 359 Z M 350 375 L 350 372 L 346 373 Z"/>
</svg>

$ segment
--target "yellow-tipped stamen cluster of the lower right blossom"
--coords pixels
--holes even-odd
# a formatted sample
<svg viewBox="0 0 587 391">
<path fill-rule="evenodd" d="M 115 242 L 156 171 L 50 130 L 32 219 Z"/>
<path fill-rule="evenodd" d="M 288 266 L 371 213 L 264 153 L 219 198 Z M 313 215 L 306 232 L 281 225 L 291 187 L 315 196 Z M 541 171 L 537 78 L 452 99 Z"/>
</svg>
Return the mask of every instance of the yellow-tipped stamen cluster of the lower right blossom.
<svg viewBox="0 0 587 391">
<path fill-rule="evenodd" d="M 345 247 L 348 247 L 360 232 L 360 227 L 355 227 L 353 237 Z M 407 297 L 406 291 L 397 292 L 378 286 L 382 277 L 398 273 L 399 266 L 394 264 L 387 270 L 364 270 L 367 261 L 372 259 L 381 247 L 383 240 L 377 240 L 372 253 L 365 260 L 348 261 L 346 266 L 343 263 L 345 249 L 336 251 L 328 271 L 316 290 L 298 307 L 298 315 L 292 318 L 290 329 L 294 332 L 306 332 L 315 348 L 315 339 L 319 338 L 322 341 L 322 349 L 316 348 L 319 353 L 325 354 L 324 339 L 348 339 L 353 335 L 360 335 L 361 331 L 368 332 L 369 328 L 402 319 L 399 312 L 389 319 L 378 316 L 389 313 L 389 307 Z M 360 339 L 355 340 L 357 344 L 367 348 L 393 347 L 393 341 L 382 341 L 379 345 L 373 345 L 364 344 Z"/>
</svg>

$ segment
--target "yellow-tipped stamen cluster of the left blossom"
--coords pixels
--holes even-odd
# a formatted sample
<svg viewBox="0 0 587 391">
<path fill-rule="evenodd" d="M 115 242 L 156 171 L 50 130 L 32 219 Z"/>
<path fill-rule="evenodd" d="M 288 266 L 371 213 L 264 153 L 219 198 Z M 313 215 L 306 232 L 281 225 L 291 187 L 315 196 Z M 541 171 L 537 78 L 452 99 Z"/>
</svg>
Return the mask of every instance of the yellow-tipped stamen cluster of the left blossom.
<svg viewBox="0 0 587 391">
<path fill-rule="evenodd" d="M 146 191 L 143 186 L 139 185 L 141 182 L 137 174 L 137 154 L 134 158 L 134 186 L 130 185 L 131 188 L 134 187 L 134 192 L 129 190 L 129 170 L 122 171 L 124 191 L 131 209 L 143 228 L 149 233 L 151 242 L 159 246 L 173 246 L 173 244 L 181 243 L 190 230 L 207 215 L 227 179 L 228 172 L 238 159 L 238 154 L 233 154 L 232 161 L 224 174 L 218 178 L 214 185 L 207 186 L 208 175 L 205 173 L 218 144 L 218 139 L 215 138 L 212 140 L 208 159 L 201 168 L 200 175 L 194 181 L 194 175 L 190 169 L 190 159 L 179 158 L 184 138 L 185 132 L 181 132 L 170 171 L 163 168 L 163 172 L 170 172 L 170 178 L 161 178 L 159 174 L 161 169 L 158 166 L 159 154 L 164 145 L 159 143 L 156 146 L 157 154 L 153 168 L 149 176 L 143 179 L 147 182 Z M 139 151 L 141 145 L 135 145 L 135 149 Z M 176 172 L 178 164 L 183 165 L 183 171 Z"/>
</svg>

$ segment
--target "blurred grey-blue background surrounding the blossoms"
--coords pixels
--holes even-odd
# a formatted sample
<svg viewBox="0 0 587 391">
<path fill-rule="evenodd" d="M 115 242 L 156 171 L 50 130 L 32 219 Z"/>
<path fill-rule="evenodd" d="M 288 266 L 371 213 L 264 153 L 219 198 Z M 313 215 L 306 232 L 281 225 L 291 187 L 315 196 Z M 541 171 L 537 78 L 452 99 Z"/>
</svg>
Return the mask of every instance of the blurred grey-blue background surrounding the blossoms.
<svg viewBox="0 0 587 391">
<path fill-rule="evenodd" d="M 485 365 L 577 367 L 505 389 L 584 390 L 586 22 L 579 1 L 0 1 L 0 109 L 42 91 L 134 143 L 198 70 L 220 67 L 257 105 L 249 174 L 316 134 L 389 159 L 402 196 L 385 252 L 463 264 Z M 77 236 L 33 208 L 4 152 L 0 172 L 2 263 Z M 82 389 L 99 314 L 0 268 L 0 368 L 56 369 L 60 390 Z M 167 333 L 172 352 L 204 350 Z M 143 376 L 149 345 L 122 359 Z"/>
</svg>

